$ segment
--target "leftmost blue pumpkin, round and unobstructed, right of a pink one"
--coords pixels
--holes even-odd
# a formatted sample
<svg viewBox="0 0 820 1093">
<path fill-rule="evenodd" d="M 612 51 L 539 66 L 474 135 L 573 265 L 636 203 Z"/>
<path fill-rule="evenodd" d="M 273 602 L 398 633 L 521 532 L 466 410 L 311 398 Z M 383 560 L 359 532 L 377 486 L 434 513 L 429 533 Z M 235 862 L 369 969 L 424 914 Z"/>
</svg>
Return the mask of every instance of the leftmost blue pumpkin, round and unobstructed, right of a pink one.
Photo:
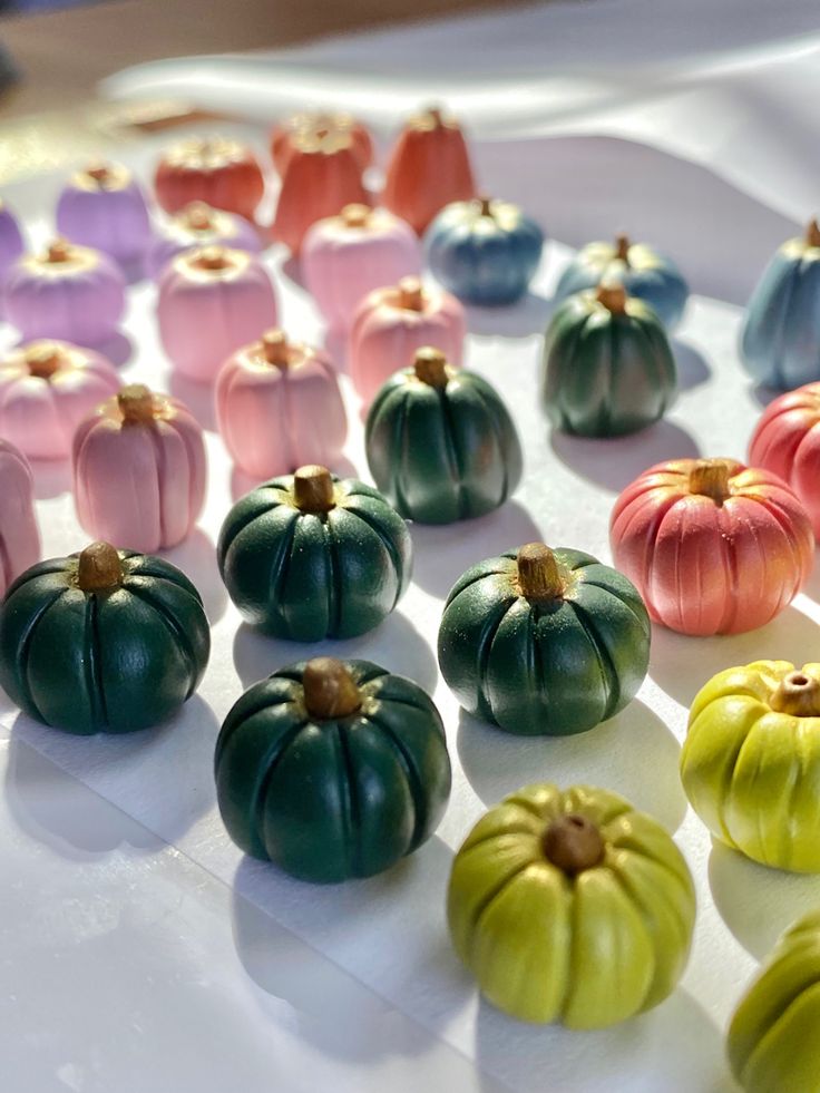
<svg viewBox="0 0 820 1093">
<path fill-rule="evenodd" d="M 424 238 L 435 276 L 466 303 L 520 300 L 535 276 L 544 232 L 509 202 L 482 197 L 447 205 Z"/>
</svg>

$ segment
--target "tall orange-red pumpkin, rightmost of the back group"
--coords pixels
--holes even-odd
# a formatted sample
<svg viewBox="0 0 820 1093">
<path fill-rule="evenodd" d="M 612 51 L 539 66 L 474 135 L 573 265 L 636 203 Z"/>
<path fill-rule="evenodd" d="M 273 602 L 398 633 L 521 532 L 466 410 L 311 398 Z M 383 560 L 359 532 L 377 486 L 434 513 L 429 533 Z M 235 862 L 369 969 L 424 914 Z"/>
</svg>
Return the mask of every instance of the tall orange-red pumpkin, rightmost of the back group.
<svg viewBox="0 0 820 1093">
<path fill-rule="evenodd" d="M 409 118 L 390 153 L 382 203 L 422 235 L 445 205 L 475 196 L 458 121 L 437 108 Z"/>
</svg>

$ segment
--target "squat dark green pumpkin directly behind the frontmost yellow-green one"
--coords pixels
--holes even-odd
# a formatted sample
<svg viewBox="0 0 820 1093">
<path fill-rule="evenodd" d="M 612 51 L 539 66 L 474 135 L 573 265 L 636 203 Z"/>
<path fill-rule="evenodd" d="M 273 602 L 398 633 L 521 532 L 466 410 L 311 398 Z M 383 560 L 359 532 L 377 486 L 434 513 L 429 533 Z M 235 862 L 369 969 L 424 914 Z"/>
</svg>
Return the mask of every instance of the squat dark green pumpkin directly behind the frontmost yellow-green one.
<svg viewBox="0 0 820 1093">
<path fill-rule="evenodd" d="M 585 732 L 636 694 L 650 618 L 635 586 L 580 550 L 543 543 L 481 562 L 457 582 L 439 665 L 470 713 L 521 735 Z"/>
</svg>

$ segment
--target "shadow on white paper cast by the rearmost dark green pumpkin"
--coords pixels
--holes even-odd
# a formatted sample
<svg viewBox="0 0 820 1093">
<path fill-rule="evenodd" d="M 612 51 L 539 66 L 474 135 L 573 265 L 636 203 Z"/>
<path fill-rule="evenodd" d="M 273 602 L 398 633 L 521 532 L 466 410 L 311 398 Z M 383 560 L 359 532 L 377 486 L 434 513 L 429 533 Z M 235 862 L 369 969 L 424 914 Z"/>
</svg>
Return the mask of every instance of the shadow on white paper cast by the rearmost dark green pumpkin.
<svg viewBox="0 0 820 1093">
<path fill-rule="evenodd" d="M 667 419 L 627 437 L 574 437 L 553 429 L 549 442 L 558 459 L 582 478 L 618 494 L 654 463 L 700 456 L 690 433 Z"/>
</svg>

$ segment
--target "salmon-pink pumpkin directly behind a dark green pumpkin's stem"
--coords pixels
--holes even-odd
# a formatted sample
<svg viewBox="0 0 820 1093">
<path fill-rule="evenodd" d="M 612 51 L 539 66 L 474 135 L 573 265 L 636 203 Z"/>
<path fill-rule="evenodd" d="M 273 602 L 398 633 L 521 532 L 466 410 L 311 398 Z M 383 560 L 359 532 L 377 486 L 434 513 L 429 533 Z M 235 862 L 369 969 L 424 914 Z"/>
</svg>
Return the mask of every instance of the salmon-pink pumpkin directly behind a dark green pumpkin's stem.
<svg viewBox="0 0 820 1093">
<path fill-rule="evenodd" d="M 348 355 L 364 406 L 393 372 L 412 364 L 416 350 L 423 345 L 435 345 L 459 365 L 466 332 L 458 300 L 442 289 L 422 287 L 417 277 L 371 292 L 357 309 Z"/>
</svg>

